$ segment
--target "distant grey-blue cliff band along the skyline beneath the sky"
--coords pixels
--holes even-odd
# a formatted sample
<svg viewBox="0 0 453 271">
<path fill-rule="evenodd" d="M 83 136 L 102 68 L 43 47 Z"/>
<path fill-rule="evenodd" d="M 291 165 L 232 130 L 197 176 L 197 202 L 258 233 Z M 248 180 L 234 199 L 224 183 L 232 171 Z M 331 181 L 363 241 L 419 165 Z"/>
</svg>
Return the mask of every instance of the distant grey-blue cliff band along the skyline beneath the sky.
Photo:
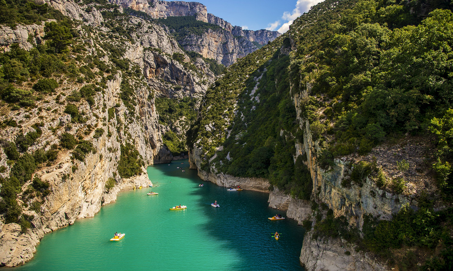
<svg viewBox="0 0 453 271">
<path fill-rule="evenodd" d="M 185 50 L 200 53 L 205 58 L 213 58 L 225 66 L 231 65 L 238 58 L 257 50 L 256 44 L 264 45 L 280 36 L 277 31 L 265 29 L 252 31 L 242 30 L 239 26 L 233 27 L 224 19 L 207 13 L 206 7 L 197 2 L 158 0 L 112 0 L 111 2 L 143 11 L 153 18 L 195 16 L 197 20 L 219 25 L 222 29 L 207 29 L 201 35 L 189 35 L 178 39 L 178 42 L 183 45 Z"/>
</svg>

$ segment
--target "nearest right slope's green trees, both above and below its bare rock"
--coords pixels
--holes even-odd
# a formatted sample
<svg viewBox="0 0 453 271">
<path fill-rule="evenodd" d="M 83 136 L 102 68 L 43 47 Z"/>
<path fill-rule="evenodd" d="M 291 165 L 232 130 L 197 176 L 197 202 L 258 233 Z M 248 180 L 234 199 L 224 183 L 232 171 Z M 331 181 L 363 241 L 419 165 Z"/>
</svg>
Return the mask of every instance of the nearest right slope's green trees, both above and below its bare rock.
<svg viewBox="0 0 453 271">
<path fill-rule="evenodd" d="M 328 170 L 338 156 L 366 154 L 389 138 L 435 135 L 433 169 L 451 207 L 453 14 L 446 3 L 430 1 L 424 14 L 422 1 L 325 1 L 313 8 L 316 16 L 295 20 L 290 80 L 300 117 L 323 147 L 321 167 Z M 315 208 L 314 229 L 356 242 L 403 270 L 449 270 L 451 208 L 436 212 L 433 202 L 417 197 L 417 211 L 405 206 L 391 220 L 367 218 L 361 232 L 332 210 L 322 219 Z M 410 252 L 395 253 L 401 248 Z"/>
</svg>

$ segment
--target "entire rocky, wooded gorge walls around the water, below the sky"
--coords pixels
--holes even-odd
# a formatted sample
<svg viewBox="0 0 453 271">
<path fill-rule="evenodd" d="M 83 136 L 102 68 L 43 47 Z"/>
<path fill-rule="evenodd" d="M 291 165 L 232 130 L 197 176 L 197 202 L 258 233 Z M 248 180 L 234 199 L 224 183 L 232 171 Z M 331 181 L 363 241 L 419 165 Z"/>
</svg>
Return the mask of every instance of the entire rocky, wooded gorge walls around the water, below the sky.
<svg viewBox="0 0 453 271">
<path fill-rule="evenodd" d="M 448 1 L 325 0 L 283 35 L 195 2 L 0 8 L 2 266 L 183 153 L 269 192 L 308 271 L 452 268 Z"/>
</svg>

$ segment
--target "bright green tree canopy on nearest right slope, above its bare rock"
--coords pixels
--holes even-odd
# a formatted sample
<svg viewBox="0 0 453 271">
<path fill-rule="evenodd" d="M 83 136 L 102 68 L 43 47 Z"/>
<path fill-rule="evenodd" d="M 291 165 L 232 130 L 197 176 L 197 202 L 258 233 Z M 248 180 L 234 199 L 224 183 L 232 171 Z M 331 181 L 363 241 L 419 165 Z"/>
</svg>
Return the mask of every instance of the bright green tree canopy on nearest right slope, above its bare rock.
<svg viewBox="0 0 453 271">
<path fill-rule="evenodd" d="M 317 35 L 306 18 L 292 26 L 293 91 L 308 91 L 303 117 L 322 125 L 324 168 L 389 136 L 423 134 L 451 106 L 452 12 L 434 10 L 407 25 L 419 20 L 408 11 L 415 2 L 357 1 L 343 16 L 321 15 L 318 22 L 332 24 Z"/>
</svg>

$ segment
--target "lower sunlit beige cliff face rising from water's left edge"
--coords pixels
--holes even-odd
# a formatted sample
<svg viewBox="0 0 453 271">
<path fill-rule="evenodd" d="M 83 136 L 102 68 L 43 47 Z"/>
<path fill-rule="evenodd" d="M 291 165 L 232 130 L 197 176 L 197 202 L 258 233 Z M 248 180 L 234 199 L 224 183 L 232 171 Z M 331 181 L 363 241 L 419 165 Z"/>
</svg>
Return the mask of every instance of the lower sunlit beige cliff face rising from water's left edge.
<svg viewBox="0 0 453 271">
<path fill-rule="evenodd" d="M 153 113 L 151 110 L 153 105 L 147 100 L 148 95 L 143 93 L 147 91 L 147 88 L 137 89 L 140 106 L 137 105 L 135 109 L 143 117 L 140 118 L 140 115 L 137 115 L 138 120 L 136 118 L 128 120 L 125 119 L 127 109 L 119 98 L 120 83 L 121 77 L 118 74 L 116 78 L 107 83 L 105 93 L 99 93 L 95 97 L 96 105 L 106 104 L 112 108 L 119 104 L 120 106 L 115 107 L 117 118 L 103 123 L 99 116 L 107 118 L 107 111 L 96 110 L 96 106 L 93 108 L 81 104 L 79 108 L 86 112 L 87 123 L 74 125 L 71 130 L 67 129 L 67 132 L 75 132 L 87 125 L 102 127 L 106 132 L 99 138 L 93 138 L 93 133 L 84 137 L 84 140 L 92 140 L 96 152 L 88 154 L 84 161 L 73 160 L 68 153 L 60 152 L 56 165 L 43 167 L 34 174 L 35 177 L 50 184 L 51 193 L 43 202 L 40 212 L 29 211 L 29 214 L 34 216 L 32 229 L 20 232 L 19 225 L 15 223 L 3 225 L 0 233 L 0 262 L 2 265 L 16 266 L 29 260 L 33 257 L 34 247 L 44 233 L 70 225 L 77 218 L 92 217 L 102 205 L 116 200 L 116 194 L 120 189 L 132 184 L 144 186 L 149 184 L 145 168 L 142 168 L 140 176 L 133 179 L 121 179 L 120 176 L 113 175 L 117 171 L 120 145 L 124 144 L 124 141 L 135 141 L 135 146 L 147 165 L 154 163 L 154 153 L 159 151 L 159 149 L 152 148 L 149 141 L 156 142 L 156 147 L 160 147 L 157 115 L 155 111 Z M 59 107 L 58 104 L 50 105 L 55 108 Z M 53 133 L 52 127 L 56 122 L 63 125 L 69 124 L 71 116 L 63 114 L 58 119 L 50 121 L 50 118 L 54 116 L 51 114 L 45 116 L 49 117 L 49 121 L 42 129 L 42 138 L 46 141 L 43 140 L 42 143 L 34 145 L 31 149 L 39 149 L 45 146 L 46 142 L 59 141 L 59 135 L 63 131 Z M 21 119 L 20 114 L 16 115 L 16 118 L 18 121 L 36 121 L 34 118 Z M 23 122 L 24 126 L 28 126 L 27 122 Z M 123 124 L 124 126 L 122 126 Z M 119 126 L 122 126 L 120 131 L 116 129 Z M 13 139 L 12 137 L 17 132 L 13 131 L 15 129 L 18 128 L 2 131 L 2 138 L 8 138 L 9 134 L 10 139 Z M 107 131 L 112 133 L 111 136 L 108 136 Z M 128 138 L 128 134 L 133 135 L 132 138 Z M 108 178 L 116 178 L 117 185 L 107 193 L 105 186 Z M 24 187 L 30 183 L 24 184 Z"/>
</svg>

